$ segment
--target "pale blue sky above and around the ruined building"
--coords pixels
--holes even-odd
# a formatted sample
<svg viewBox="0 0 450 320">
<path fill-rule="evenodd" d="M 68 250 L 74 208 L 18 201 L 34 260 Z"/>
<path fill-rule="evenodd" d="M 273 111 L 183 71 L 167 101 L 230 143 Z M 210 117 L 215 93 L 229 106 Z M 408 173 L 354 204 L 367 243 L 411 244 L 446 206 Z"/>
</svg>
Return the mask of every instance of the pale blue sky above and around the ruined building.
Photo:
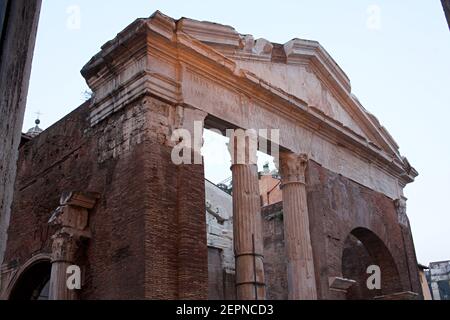
<svg viewBox="0 0 450 320">
<path fill-rule="evenodd" d="M 79 28 L 71 19 L 77 8 Z M 420 173 L 406 188 L 419 261 L 450 259 L 450 32 L 439 0 L 44 0 L 24 130 L 37 111 L 46 128 L 80 105 L 83 65 L 134 19 L 156 10 L 278 43 L 319 41 Z M 207 174 L 217 181 L 228 173 L 212 166 Z"/>
</svg>

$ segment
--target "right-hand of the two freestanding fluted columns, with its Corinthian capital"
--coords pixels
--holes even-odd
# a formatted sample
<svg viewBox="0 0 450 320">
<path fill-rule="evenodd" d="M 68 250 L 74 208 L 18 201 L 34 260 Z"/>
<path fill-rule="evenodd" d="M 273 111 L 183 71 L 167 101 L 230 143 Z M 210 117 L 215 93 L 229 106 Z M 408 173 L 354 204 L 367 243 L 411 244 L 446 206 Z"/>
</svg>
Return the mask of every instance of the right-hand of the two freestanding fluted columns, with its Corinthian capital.
<svg viewBox="0 0 450 320">
<path fill-rule="evenodd" d="M 306 155 L 280 153 L 284 238 L 290 300 L 317 299 L 306 200 Z"/>
</svg>

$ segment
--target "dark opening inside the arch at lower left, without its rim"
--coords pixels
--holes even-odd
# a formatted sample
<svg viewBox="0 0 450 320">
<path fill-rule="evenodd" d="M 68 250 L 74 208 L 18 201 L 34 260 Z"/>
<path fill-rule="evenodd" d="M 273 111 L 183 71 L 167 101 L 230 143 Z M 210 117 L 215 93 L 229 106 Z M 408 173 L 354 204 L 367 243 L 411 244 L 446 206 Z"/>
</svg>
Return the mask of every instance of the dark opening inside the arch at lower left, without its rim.
<svg viewBox="0 0 450 320">
<path fill-rule="evenodd" d="M 40 260 L 22 272 L 17 279 L 9 300 L 48 300 L 51 263 Z"/>
</svg>

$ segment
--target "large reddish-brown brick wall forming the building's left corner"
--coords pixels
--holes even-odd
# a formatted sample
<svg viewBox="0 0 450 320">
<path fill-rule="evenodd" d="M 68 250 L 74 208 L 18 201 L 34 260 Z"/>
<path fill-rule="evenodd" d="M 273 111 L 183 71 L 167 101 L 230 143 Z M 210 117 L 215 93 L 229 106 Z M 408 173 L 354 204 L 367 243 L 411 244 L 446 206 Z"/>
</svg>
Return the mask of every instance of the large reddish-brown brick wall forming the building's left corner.
<svg viewBox="0 0 450 320">
<path fill-rule="evenodd" d="M 144 97 L 94 128 L 84 104 L 20 150 L 5 262 L 50 251 L 63 191 L 97 192 L 82 299 L 206 299 L 203 166 L 175 166 L 171 106 Z"/>
</svg>

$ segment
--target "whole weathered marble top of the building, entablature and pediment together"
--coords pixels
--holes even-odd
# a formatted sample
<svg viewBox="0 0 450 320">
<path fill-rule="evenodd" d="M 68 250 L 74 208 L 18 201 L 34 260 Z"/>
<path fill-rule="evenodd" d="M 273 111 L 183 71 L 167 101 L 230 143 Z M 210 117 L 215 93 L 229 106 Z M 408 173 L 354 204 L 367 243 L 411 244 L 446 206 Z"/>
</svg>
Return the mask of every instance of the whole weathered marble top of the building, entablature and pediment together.
<svg viewBox="0 0 450 320">
<path fill-rule="evenodd" d="M 94 92 L 93 126 L 150 94 L 239 128 L 280 129 L 283 149 L 391 199 L 417 176 L 315 41 L 280 46 L 156 12 L 105 44 L 82 74 Z"/>
</svg>

